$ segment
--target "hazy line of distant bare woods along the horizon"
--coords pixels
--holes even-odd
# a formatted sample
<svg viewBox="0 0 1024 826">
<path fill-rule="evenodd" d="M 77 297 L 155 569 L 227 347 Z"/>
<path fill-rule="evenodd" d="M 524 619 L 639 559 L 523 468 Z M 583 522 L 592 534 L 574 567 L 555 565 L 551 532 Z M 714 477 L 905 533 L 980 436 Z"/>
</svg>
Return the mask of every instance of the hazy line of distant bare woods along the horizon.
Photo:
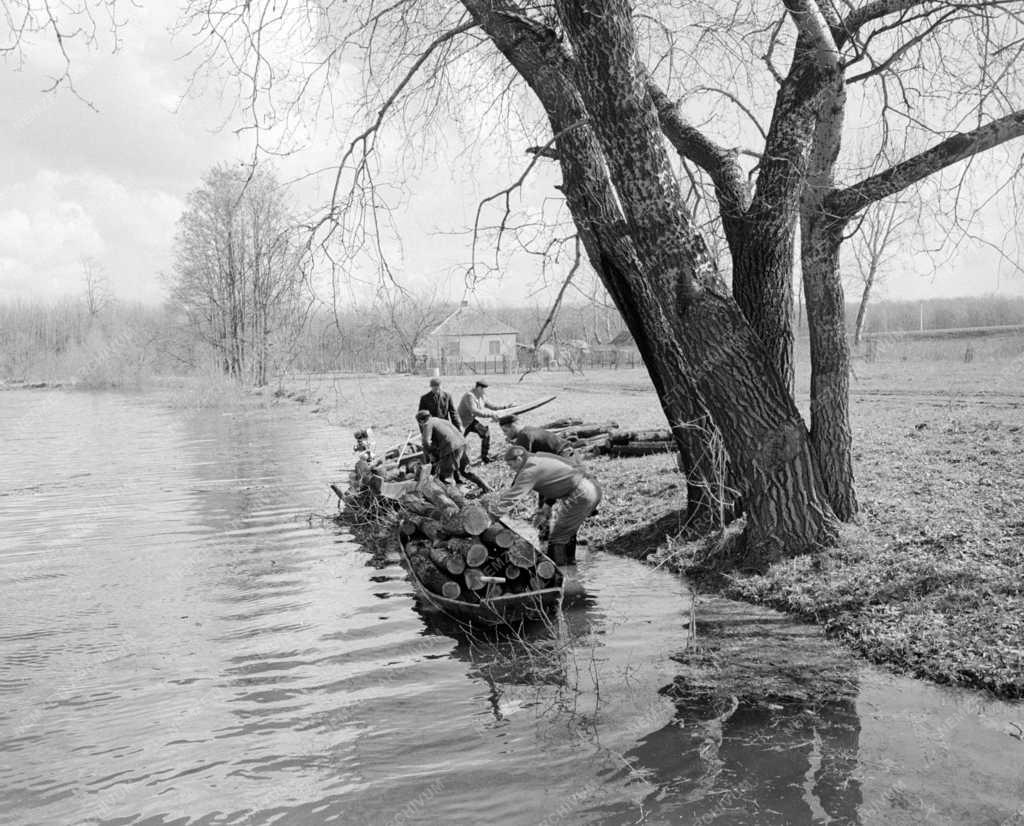
<svg viewBox="0 0 1024 826">
<path fill-rule="evenodd" d="M 451 302 L 409 307 L 361 306 L 310 313 L 274 377 L 295 372 L 378 372 L 409 363 L 413 347 L 456 309 Z M 497 321 L 534 343 L 550 307 L 486 308 Z M 852 331 L 857 307 L 847 304 Z M 885 334 L 1024 324 L 1024 298 L 969 297 L 881 301 L 868 310 L 865 332 Z M 611 307 L 566 304 L 544 330 L 544 342 L 606 347 L 625 330 Z M 86 300 L 0 303 L 0 379 L 74 381 L 92 387 L 131 386 L 155 375 L 219 371 L 218 354 L 201 341 L 180 308 Z M 271 379 L 272 381 L 272 379 Z"/>
</svg>

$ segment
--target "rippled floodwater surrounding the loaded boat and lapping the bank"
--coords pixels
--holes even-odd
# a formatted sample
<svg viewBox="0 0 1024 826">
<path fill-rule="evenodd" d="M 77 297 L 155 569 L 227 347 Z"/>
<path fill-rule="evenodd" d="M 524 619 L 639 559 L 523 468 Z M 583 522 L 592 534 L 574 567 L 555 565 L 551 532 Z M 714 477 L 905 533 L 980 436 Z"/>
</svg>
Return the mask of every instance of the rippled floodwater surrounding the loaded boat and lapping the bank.
<svg viewBox="0 0 1024 826">
<path fill-rule="evenodd" d="M 325 518 L 347 437 L 0 393 L 0 823 L 1024 824 L 1024 707 L 720 600 L 693 641 L 664 571 L 438 624 Z"/>
</svg>

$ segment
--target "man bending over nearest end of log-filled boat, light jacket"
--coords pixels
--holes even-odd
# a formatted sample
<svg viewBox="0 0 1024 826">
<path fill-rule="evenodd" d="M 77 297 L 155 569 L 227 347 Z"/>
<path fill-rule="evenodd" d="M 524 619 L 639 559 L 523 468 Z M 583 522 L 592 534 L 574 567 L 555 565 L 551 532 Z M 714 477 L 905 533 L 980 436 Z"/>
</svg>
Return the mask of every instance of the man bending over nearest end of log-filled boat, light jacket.
<svg viewBox="0 0 1024 826">
<path fill-rule="evenodd" d="M 578 463 L 554 453 L 530 453 L 518 444 L 505 451 L 505 462 L 515 476 L 509 488 L 498 493 L 490 512 L 504 516 L 516 499 L 536 490 L 540 508 L 535 524 L 543 524 L 548 518 L 546 503 L 554 501 L 547 553 L 556 565 L 573 564 L 577 531 L 600 505 L 601 486 Z"/>
</svg>

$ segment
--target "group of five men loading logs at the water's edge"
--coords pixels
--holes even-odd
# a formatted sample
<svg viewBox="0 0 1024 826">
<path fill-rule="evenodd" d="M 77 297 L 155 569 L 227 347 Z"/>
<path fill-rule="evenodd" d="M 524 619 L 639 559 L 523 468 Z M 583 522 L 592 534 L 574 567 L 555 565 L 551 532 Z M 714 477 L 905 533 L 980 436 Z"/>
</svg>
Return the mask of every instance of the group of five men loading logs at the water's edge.
<svg viewBox="0 0 1024 826">
<path fill-rule="evenodd" d="M 530 491 L 538 494 L 534 524 L 548 532 L 548 555 L 559 565 L 575 561 L 577 531 L 597 511 L 601 487 L 572 457 L 569 445 L 558 434 L 540 427 L 520 426 L 514 414 L 501 414 L 513 406 L 493 404 L 486 398 L 487 383 L 480 380 L 456 406 L 438 378 L 430 380 L 430 391 L 420 397 L 416 421 L 420 426 L 424 457 L 434 475 L 457 484 L 463 477 L 483 493 L 490 486 L 471 470 L 466 437 L 480 437 L 480 462 L 490 462 L 490 430 L 486 420 L 496 419 L 508 441 L 504 459 L 512 471 L 511 485 L 487 499 L 490 513 L 501 517 L 516 501 Z"/>
</svg>

